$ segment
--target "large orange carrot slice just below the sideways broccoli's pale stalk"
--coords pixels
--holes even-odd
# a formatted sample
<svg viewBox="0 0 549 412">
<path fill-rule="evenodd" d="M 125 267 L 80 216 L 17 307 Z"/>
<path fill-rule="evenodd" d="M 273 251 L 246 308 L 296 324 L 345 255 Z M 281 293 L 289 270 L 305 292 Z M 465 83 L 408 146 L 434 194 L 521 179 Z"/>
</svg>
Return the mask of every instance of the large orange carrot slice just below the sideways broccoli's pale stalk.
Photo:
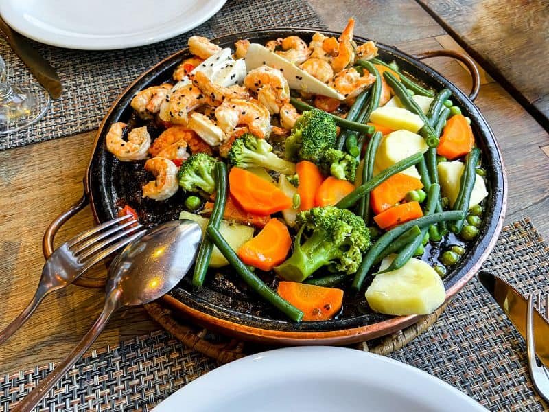
<svg viewBox="0 0 549 412">
<path fill-rule="evenodd" d="M 272 183 L 241 168 L 229 172 L 229 192 L 244 211 L 266 216 L 292 206 L 292 199 Z"/>
</svg>

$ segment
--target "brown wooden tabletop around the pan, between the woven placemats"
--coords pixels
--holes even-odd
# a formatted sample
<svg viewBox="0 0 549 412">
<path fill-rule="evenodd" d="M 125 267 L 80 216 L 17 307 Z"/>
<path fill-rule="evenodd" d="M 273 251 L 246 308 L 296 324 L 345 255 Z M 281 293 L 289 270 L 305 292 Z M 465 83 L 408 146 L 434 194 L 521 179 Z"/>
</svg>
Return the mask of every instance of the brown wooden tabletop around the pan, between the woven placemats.
<svg viewBox="0 0 549 412">
<path fill-rule="evenodd" d="M 356 34 L 395 44 L 405 52 L 458 47 L 443 28 L 414 1 L 315 0 L 331 30 L 342 30 L 349 16 Z M 465 91 L 469 75 L 458 63 L 436 58 L 429 64 Z M 115 96 L 113 96 L 113 100 Z M 530 216 L 549 238 L 549 139 L 500 84 L 484 78 L 476 104 L 498 136 L 509 174 L 507 222 Z M 43 266 L 41 240 L 51 220 L 82 194 L 82 176 L 94 133 L 56 139 L 0 152 L 0 328 L 30 300 Z M 544 152 L 544 146 L 546 152 Z M 58 235 L 58 242 L 93 225 L 84 209 Z M 97 275 L 104 268 L 96 268 Z M 89 329 L 100 312 L 103 291 L 69 286 L 53 293 L 15 336 L 0 346 L 0 372 L 59 361 Z M 159 328 L 141 308 L 118 312 L 93 348 Z"/>
</svg>

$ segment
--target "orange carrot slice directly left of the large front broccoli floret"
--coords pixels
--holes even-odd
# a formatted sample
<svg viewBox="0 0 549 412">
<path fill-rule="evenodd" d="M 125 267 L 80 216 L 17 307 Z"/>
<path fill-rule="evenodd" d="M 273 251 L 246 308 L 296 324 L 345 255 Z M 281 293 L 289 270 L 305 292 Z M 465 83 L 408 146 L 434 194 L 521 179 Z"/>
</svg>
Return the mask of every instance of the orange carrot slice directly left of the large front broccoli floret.
<svg viewBox="0 0 549 412">
<path fill-rule="evenodd" d="M 237 255 L 245 264 L 270 271 L 284 262 L 290 247 L 292 238 L 288 227 L 278 219 L 271 219 L 255 238 L 238 249 Z"/>
</svg>

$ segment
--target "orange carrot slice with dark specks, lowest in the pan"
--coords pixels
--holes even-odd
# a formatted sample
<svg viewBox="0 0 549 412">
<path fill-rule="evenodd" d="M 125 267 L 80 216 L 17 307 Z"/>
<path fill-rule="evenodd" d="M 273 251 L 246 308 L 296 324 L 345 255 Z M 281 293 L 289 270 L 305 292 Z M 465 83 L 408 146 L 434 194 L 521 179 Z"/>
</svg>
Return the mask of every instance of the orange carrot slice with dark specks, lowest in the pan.
<svg viewBox="0 0 549 412">
<path fill-rule="evenodd" d="M 325 321 L 336 315 L 343 302 L 343 290 L 298 282 L 280 282 L 278 294 L 303 312 L 303 321 Z"/>
</svg>

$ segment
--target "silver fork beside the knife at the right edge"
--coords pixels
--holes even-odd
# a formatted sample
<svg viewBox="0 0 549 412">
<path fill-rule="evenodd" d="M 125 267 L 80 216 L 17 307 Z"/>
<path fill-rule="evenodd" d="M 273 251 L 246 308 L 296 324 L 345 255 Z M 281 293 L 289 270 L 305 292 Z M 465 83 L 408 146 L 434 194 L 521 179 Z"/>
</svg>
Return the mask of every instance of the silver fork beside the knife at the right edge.
<svg viewBox="0 0 549 412">
<path fill-rule="evenodd" d="M 539 295 L 537 307 L 540 307 Z M 549 319 L 549 294 L 545 297 L 545 317 Z M 528 352 L 528 369 L 534 382 L 534 387 L 541 398 L 549 402 L 549 370 L 536 358 L 534 342 L 534 296 L 528 296 L 528 312 L 526 312 L 526 350 Z"/>
</svg>

